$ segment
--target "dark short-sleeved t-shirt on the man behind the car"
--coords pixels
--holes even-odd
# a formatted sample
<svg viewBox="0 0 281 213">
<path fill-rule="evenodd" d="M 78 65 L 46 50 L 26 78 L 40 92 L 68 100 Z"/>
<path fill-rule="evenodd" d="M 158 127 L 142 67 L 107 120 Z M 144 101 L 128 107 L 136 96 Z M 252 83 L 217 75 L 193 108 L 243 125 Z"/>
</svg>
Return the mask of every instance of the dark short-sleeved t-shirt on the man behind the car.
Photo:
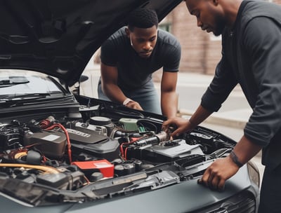
<svg viewBox="0 0 281 213">
<path fill-rule="evenodd" d="M 158 29 L 152 55 L 148 59 L 142 58 L 131 47 L 125 27 L 122 27 L 103 43 L 100 59 L 107 66 L 117 67 L 119 88 L 130 90 L 148 83 L 152 73 L 161 67 L 163 71 L 178 71 L 181 45 L 169 32 Z"/>
</svg>

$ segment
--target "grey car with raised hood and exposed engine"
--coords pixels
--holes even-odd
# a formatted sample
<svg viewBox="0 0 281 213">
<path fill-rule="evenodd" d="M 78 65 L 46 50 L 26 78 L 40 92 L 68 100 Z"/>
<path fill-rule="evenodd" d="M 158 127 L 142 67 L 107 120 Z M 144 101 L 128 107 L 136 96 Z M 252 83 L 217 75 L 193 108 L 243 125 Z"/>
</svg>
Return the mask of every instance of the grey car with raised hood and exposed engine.
<svg viewBox="0 0 281 213">
<path fill-rule="evenodd" d="M 197 184 L 235 146 L 223 132 L 169 139 L 162 115 L 79 95 L 86 64 L 130 11 L 162 20 L 179 3 L 0 0 L 1 211 L 256 212 L 254 163 L 223 191 Z"/>
</svg>

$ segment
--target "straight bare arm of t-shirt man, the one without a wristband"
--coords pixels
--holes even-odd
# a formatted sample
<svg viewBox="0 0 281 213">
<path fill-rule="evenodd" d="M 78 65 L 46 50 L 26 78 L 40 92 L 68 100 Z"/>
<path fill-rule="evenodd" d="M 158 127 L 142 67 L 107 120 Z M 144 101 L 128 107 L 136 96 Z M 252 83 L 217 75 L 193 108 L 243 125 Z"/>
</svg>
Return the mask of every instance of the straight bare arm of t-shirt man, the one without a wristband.
<svg viewBox="0 0 281 213">
<path fill-rule="evenodd" d="M 178 110 L 178 97 L 176 95 L 176 81 L 178 72 L 163 71 L 161 81 L 161 109 L 167 118 L 176 116 Z"/>
</svg>

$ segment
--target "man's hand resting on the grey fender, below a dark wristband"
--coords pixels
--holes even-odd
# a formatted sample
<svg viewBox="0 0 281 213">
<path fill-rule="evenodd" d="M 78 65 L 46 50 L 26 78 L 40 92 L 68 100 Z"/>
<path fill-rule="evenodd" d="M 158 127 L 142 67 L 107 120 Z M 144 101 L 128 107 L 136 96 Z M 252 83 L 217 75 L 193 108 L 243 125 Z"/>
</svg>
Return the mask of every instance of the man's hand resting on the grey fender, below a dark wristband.
<svg viewBox="0 0 281 213">
<path fill-rule="evenodd" d="M 239 167 L 233 162 L 230 156 L 221 158 L 212 163 L 204 172 L 199 184 L 208 186 L 212 190 L 222 191 L 226 180 L 233 177 L 239 170 Z"/>
</svg>

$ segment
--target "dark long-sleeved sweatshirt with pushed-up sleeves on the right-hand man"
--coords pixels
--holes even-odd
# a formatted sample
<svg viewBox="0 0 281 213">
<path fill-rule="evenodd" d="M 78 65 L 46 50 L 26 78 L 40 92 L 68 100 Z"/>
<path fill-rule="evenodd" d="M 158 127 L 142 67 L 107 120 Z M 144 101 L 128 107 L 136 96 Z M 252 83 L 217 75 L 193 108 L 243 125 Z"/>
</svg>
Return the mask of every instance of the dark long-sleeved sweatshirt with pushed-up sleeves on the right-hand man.
<svg viewBox="0 0 281 213">
<path fill-rule="evenodd" d="M 232 29 L 222 34 L 222 58 L 201 105 L 218 111 L 239 83 L 253 109 L 244 128 L 263 146 L 263 165 L 281 164 L 281 6 L 242 1 Z"/>
</svg>

